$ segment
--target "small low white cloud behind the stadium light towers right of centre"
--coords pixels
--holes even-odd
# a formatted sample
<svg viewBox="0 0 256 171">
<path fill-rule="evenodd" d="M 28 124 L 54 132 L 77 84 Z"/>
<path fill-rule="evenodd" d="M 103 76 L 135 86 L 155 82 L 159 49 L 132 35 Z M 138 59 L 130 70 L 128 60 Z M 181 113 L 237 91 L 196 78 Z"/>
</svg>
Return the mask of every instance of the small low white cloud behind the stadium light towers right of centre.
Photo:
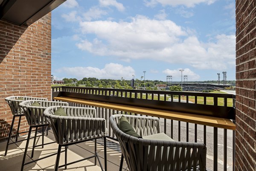
<svg viewBox="0 0 256 171">
<path fill-rule="evenodd" d="M 163 70 L 163 73 L 165 73 L 166 75 L 172 75 L 172 79 L 181 79 L 181 72 L 180 69 L 177 70 Z M 182 72 L 182 77 L 183 75 L 187 75 L 188 76 L 188 81 L 195 81 L 195 80 L 199 80 L 200 76 L 198 74 L 196 74 L 195 72 L 191 71 L 189 68 L 184 69 L 184 71 Z M 184 77 L 183 77 L 184 78 Z M 182 78 L 182 79 L 183 79 Z M 174 80 L 175 81 L 175 80 Z"/>
</svg>

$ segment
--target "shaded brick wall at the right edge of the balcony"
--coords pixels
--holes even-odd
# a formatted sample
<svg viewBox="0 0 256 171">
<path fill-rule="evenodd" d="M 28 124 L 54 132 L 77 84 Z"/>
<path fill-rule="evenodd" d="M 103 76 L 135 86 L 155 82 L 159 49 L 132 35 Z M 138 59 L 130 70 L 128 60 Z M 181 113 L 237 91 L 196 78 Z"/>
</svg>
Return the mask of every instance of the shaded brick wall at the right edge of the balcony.
<svg viewBox="0 0 256 171">
<path fill-rule="evenodd" d="M 236 125 L 236 171 L 255 171 L 255 0 L 236 0 Z"/>
</svg>

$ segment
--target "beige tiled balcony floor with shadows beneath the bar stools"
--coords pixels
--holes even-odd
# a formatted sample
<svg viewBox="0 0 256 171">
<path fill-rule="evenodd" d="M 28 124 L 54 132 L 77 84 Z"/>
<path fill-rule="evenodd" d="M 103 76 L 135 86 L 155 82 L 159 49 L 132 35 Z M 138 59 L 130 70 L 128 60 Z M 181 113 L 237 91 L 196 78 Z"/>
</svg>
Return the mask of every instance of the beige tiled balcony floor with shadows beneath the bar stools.
<svg viewBox="0 0 256 171">
<path fill-rule="evenodd" d="M 33 136 L 33 135 L 32 135 Z M 25 139 L 26 136 L 20 137 L 19 139 Z M 37 145 L 41 144 L 42 137 L 40 136 L 37 141 Z M 48 136 L 45 136 L 45 143 L 55 141 L 53 133 L 49 130 Z M 103 139 L 97 140 L 97 152 L 99 158 L 104 167 L 104 148 Z M 31 161 L 30 155 L 32 151 L 33 139 L 29 141 L 29 150 L 26 156 L 26 162 Z M 18 142 L 12 145 L 9 145 L 9 150 L 6 156 L 4 152 L 6 149 L 6 142 L 0 143 L 0 171 L 20 171 L 21 162 L 23 159 L 23 154 L 25 150 L 26 141 Z M 58 144 L 52 143 L 50 145 L 45 145 L 44 148 L 37 147 L 35 148 L 35 153 L 33 159 L 38 159 L 49 154 L 57 152 Z M 94 142 L 88 141 L 80 143 L 77 145 L 70 145 L 68 148 L 68 161 L 72 162 L 78 159 L 86 158 L 93 155 L 94 151 Z M 119 171 L 121 153 L 119 145 L 111 141 L 107 141 L 107 159 L 108 159 L 108 171 Z M 39 160 L 38 162 L 32 162 L 24 166 L 24 171 L 53 171 L 55 165 L 56 155 L 48 157 L 46 159 Z M 60 165 L 64 164 L 64 153 L 61 154 Z M 123 171 L 127 169 L 127 165 L 123 164 Z M 64 170 L 60 168 L 59 170 Z M 97 165 L 94 165 L 94 158 L 89 160 L 84 160 L 72 165 L 67 166 L 67 171 L 101 171 L 99 167 L 99 162 Z"/>
</svg>

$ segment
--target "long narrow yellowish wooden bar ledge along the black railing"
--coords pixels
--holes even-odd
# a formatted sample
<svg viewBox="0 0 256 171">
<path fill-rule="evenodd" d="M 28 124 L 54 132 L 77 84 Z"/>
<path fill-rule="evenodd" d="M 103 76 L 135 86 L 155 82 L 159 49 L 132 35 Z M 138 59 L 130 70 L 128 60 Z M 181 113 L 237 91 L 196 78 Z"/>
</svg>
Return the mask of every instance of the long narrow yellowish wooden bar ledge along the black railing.
<svg viewBox="0 0 256 171">
<path fill-rule="evenodd" d="M 129 106 L 123 104 L 107 103 L 101 101 L 92 101 L 77 99 L 71 97 L 55 97 L 54 100 L 73 102 L 78 104 L 86 104 L 89 106 L 103 107 L 113 110 L 126 111 L 131 113 L 138 113 L 143 115 L 155 116 L 165 119 L 173 119 L 182 122 L 195 123 L 199 125 L 207 125 L 217 128 L 224 128 L 229 130 L 235 130 L 236 125 L 230 119 L 215 118 L 211 116 L 195 115 L 190 113 L 173 112 L 168 110 L 158 110 L 146 107 Z"/>
</svg>

